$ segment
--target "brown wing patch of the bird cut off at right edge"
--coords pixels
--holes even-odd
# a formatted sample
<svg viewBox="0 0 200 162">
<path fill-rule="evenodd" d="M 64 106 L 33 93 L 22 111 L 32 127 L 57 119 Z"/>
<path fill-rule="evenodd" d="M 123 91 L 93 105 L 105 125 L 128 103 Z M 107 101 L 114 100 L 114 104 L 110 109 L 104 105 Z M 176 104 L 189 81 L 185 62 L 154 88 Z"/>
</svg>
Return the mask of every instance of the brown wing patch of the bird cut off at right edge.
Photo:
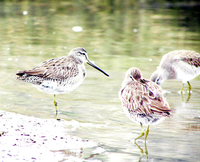
<svg viewBox="0 0 200 162">
<path fill-rule="evenodd" d="M 193 65 L 195 67 L 200 66 L 200 54 L 194 51 L 186 51 L 183 55 L 180 56 L 181 60 Z"/>
</svg>

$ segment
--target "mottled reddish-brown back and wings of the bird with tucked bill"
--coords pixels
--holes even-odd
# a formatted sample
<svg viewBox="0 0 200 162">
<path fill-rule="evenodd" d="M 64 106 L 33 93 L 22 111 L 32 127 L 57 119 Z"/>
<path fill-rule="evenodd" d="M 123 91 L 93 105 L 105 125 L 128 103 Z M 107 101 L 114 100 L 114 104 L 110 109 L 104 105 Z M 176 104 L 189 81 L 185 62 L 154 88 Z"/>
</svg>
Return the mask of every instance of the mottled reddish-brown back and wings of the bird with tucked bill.
<svg viewBox="0 0 200 162">
<path fill-rule="evenodd" d="M 163 114 L 169 112 L 169 106 L 165 98 L 156 86 L 144 85 L 141 82 L 132 81 L 121 91 L 121 100 L 129 112 L 151 115 L 154 112 Z"/>
</svg>

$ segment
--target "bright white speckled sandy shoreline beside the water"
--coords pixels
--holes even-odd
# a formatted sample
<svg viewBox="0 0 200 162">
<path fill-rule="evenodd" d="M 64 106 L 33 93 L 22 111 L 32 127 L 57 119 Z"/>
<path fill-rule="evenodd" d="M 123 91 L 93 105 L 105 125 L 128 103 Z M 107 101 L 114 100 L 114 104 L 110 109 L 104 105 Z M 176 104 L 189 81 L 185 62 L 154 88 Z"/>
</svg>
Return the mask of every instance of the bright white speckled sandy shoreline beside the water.
<svg viewBox="0 0 200 162">
<path fill-rule="evenodd" d="M 81 123 L 77 121 L 40 119 L 0 111 L 0 159 L 2 162 L 83 161 L 83 149 L 97 148 L 98 144 L 67 134 L 79 126 Z"/>
</svg>

